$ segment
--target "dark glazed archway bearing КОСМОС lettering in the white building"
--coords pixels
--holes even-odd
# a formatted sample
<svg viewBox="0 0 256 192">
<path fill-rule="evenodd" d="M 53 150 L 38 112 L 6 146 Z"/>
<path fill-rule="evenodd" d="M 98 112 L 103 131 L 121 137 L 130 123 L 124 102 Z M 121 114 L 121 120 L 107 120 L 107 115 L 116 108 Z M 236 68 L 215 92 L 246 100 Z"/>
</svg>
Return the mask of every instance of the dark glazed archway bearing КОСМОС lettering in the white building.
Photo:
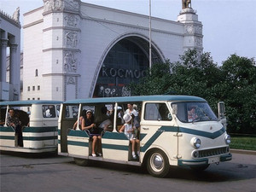
<svg viewBox="0 0 256 192">
<path fill-rule="evenodd" d="M 160 55 L 152 49 L 152 62 L 160 61 Z M 121 39 L 102 63 L 93 97 L 131 96 L 127 85 L 146 75 L 148 63 L 148 41 L 139 37 Z"/>
</svg>

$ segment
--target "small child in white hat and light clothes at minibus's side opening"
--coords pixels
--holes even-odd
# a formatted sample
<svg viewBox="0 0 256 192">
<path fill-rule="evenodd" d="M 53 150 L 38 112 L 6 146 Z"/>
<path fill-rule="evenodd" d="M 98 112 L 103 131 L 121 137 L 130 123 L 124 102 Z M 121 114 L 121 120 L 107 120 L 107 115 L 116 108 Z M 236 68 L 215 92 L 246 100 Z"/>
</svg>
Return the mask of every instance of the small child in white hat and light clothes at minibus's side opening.
<svg viewBox="0 0 256 192">
<path fill-rule="evenodd" d="M 125 125 L 123 125 L 120 129 L 120 132 L 125 132 L 125 136 L 130 140 L 131 142 L 131 148 L 132 148 L 132 158 L 137 159 L 137 156 L 135 154 L 135 145 L 137 143 L 137 155 L 139 156 L 140 153 L 140 145 L 139 145 L 139 140 L 135 137 L 134 134 L 134 128 L 131 124 L 131 115 L 130 114 L 125 114 L 123 119 L 125 120 Z"/>
</svg>

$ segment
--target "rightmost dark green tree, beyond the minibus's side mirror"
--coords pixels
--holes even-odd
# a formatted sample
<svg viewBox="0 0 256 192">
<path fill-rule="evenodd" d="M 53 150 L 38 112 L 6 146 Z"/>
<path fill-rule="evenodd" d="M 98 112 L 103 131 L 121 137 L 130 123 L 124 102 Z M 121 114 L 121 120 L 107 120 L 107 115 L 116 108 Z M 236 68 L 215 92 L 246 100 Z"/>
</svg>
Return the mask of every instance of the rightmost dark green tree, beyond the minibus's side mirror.
<svg viewBox="0 0 256 192">
<path fill-rule="evenodd" d="M 254 59 L 230 55 L 221 67 L 229 129 L 256 132 L 256 65 Z"/>
</svg>

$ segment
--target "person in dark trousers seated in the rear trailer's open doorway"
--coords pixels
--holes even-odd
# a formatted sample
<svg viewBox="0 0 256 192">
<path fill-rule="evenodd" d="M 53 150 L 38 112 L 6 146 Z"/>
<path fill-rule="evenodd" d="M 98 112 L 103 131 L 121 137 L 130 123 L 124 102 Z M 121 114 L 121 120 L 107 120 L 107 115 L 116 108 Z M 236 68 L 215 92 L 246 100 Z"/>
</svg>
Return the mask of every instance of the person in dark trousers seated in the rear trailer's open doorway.
<svg viewBox="0 0 256 192">
<path fill-rule="evenodd" d="M 15 135 L 18 136 L 18 147 L 23 147 L 22 127 L 20 126 L 20 119 L 16 117 L 15 109 L 9 109 L 9 116 L 6 125 L 15 128 Z"/>
</svg>

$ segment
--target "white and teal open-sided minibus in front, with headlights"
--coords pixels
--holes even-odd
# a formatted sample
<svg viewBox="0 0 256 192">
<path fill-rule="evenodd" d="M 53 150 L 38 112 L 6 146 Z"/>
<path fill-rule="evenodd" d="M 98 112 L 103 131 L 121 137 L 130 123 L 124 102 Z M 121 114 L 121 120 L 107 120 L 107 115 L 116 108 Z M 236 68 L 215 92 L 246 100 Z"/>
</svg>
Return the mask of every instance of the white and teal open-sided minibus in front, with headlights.
<svg viewBox="0 0 256 192">
<path fill-rule="evenodd" d="M 134 160 L 131 143 L 119 132 L 119 111 L 132 103 L 140 118 L 140 155 Z M 102 155 L 91 156 L 88 131 L 73 129 L 83 110 L 93 111 L 99 125 L 102 108 L 113 113 L 110 131 L 102 131 Z M 195 119 L 190 119 L 194 108 Z M 224 116 L 224 114 L 222 114 Z M 119 123 L 118 123 L 119 122 Z M 58 154 L 73 157 L 78 165 L 90 160 L 146 166 L 154 177 L 165 177 L 171 166 L 205 170 L 210 164 L 232 159 L 230 136 L 206 100 L 197 96 L 125 96 L 73 100 L 61 104 Z"/>
</svg>

